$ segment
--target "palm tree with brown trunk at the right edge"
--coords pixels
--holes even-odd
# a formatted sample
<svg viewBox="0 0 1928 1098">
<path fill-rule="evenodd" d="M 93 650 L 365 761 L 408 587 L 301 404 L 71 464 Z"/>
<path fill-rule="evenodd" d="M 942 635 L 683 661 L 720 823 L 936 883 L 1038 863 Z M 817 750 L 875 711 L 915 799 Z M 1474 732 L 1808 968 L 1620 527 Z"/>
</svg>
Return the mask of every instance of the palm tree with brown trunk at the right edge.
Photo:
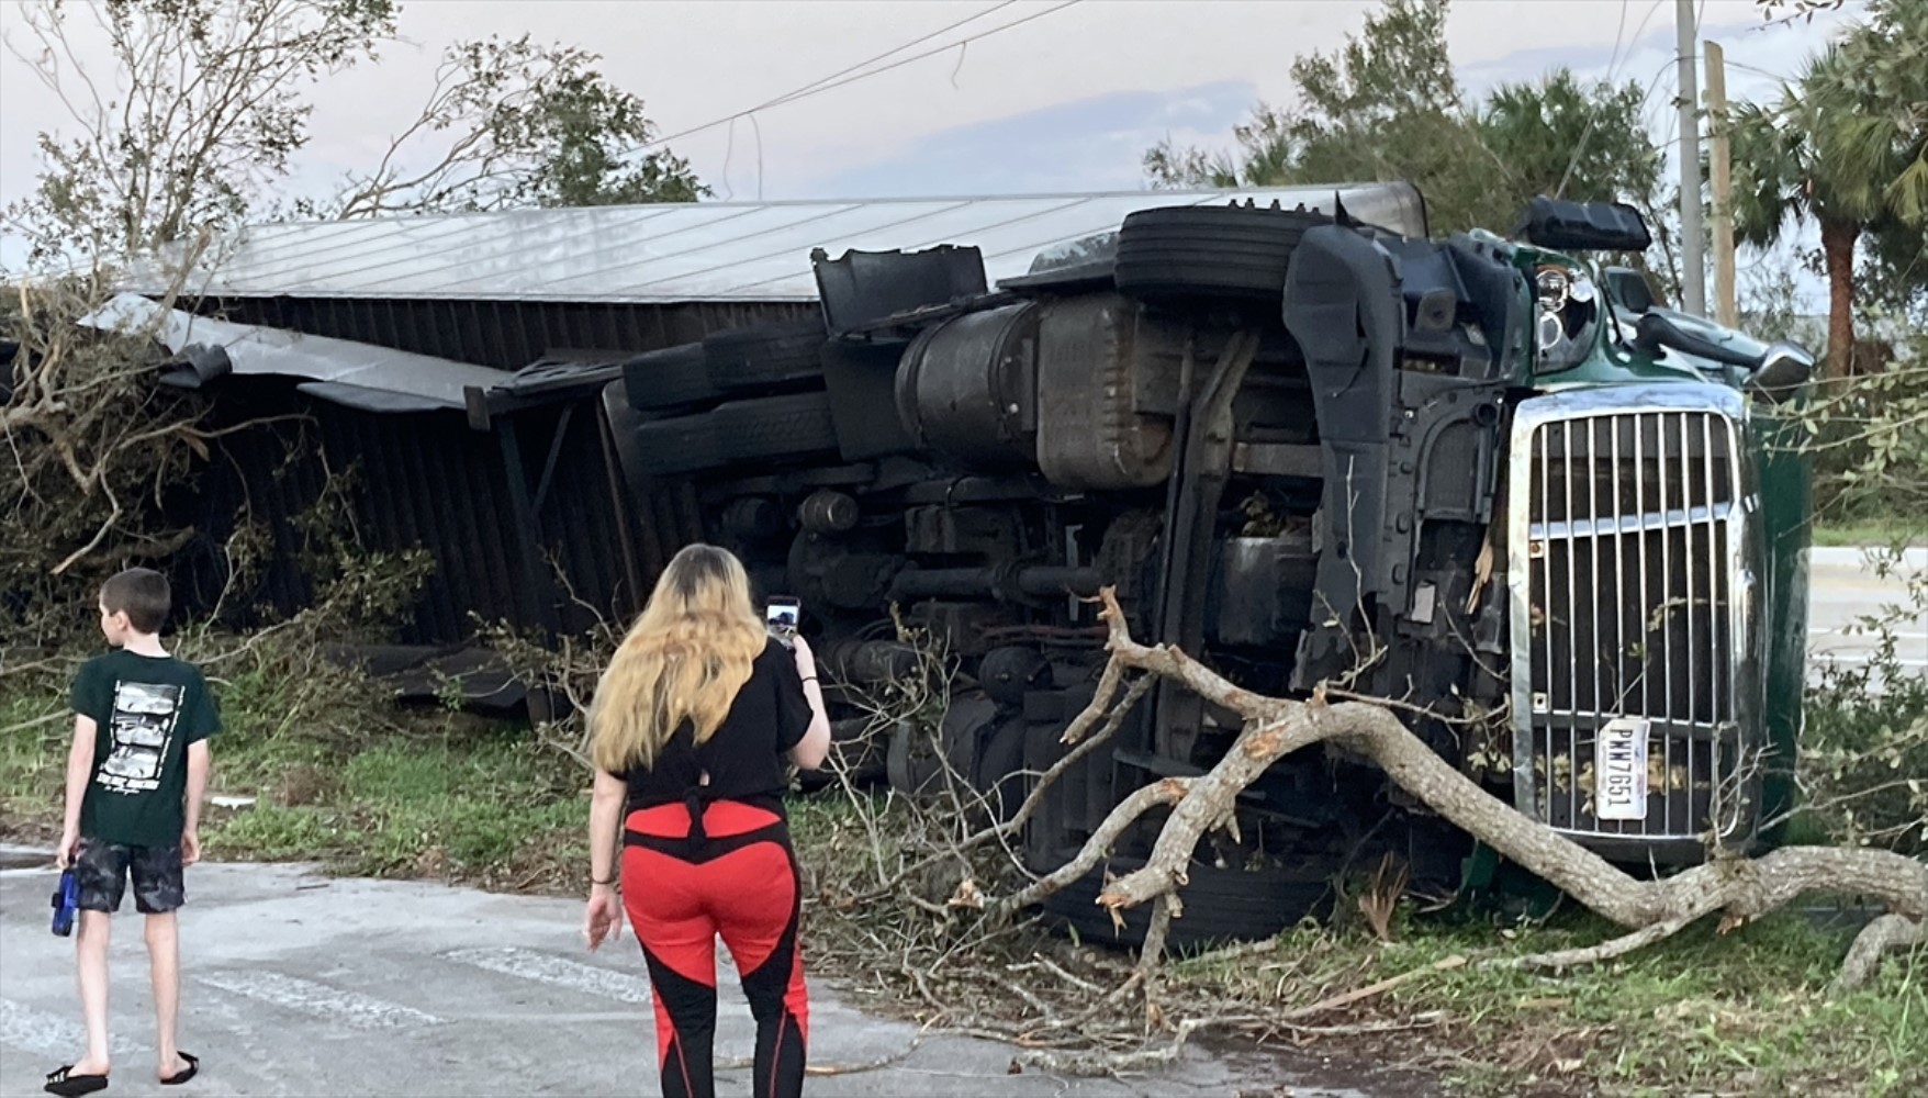
<svg viewBox="0 0 1928 1098">
<path fill-rule="evenodd" d="M 1928 230 L 1928 96 L 1913 87 L 1924 12 L 1915 0 L 1876 4 L 1780 102 L 1729 112 L 1735 235 L 1770 247 L 1807 218 L 1820 228 L 1828 378 L 1847 374 L 1855 347 L 1855 245 L 1874 226 Z"/>
</svg>

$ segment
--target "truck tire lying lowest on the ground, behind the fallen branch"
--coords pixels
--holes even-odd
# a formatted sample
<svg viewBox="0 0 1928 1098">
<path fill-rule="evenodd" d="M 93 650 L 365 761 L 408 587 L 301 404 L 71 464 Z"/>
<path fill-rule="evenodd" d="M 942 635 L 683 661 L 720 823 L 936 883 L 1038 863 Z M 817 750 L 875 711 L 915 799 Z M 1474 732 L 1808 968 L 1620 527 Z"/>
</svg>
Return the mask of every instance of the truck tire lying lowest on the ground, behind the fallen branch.
<svg viewBox="0 0 1928 1098">
<path fill-rule="evenodd" d="M 1111 874 L 1124 876 L 1143 868 L 1143 859 L 1112 855 Z M 1084 940 L 1116 946 L 1141 946 L 1151 926 L 1151 903 L 1128 907 L 1118 915 L 1124 928 L 1112 926 L 1111 913 L 1097 905 L 1105 888 L 1105 868 L 1099 866 L 1047 895 L 1045 915 L 1078 932 Z M 1192 863 L 1190 880 L 1178 890 L 1184 915 L 1172 920 L 1168 949 L 1195 949 L 1226 942 L 1261 942 L 1276 936 L 1307 915 L 1330 909 L 1332 886 L 1325 880 L 1299 880 L 1286 870 L 1240 870 Z"/>
</svg>

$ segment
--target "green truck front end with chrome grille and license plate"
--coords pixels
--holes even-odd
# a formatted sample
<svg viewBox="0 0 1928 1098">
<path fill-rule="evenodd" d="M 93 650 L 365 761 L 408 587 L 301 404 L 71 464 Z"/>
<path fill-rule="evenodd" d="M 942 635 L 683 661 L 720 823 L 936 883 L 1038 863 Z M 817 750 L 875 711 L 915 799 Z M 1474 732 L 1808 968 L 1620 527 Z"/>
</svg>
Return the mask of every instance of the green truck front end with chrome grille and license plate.
<svg viewBox="0 0 1928 1098">
<path fill-rule="evenodd" d="M 1523 232 L 1647 243 L 1631 210 L 1544 201 Z M 1492 243 L 1537 303 L 1508 463 L 1515 801 L 1627 861 L 1768 841 L 1807 658 L 1810 469 L 1783 409 L 1814 359 L 1660 309 L 1635 270 Z"/>
</svg>

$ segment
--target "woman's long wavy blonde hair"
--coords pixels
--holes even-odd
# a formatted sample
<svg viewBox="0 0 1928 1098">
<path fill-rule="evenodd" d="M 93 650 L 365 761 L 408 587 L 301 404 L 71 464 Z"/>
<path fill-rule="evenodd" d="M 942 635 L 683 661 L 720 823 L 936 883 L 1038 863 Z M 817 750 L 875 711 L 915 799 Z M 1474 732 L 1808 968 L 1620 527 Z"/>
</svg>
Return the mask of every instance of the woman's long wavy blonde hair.
<svg viewBox="0 0 1928 1098">
<path fill-rule="evenodd" d="M 590 702 L 590 755 L 621 774 L 650 768 L 683 722 L 696 743 L 729 716 L 767 645 L 750 577 L 731 552 L 684 546 L 617 646 Z"/>
</svg>

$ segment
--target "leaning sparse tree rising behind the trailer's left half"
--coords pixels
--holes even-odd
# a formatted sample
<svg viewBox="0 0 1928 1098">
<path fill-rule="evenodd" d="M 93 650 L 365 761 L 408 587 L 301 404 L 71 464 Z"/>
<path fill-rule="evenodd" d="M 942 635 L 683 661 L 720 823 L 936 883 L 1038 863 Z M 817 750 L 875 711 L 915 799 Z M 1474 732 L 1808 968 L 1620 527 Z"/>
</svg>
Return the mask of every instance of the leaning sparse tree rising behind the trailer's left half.
<svg viewBox="0 0 1928 1098">
<path fill-rule="evenodd" d="M 443 56 L 415 125 L 366 176 L 316 212 L 380 216 L 515 206 L 694 203 L 708 197 L 690 166 L 656 139 L 642 100 L 575 46 L 515 41 L 459 42 Z M 403 168 L 418 137 L 455 133 L 426 168 Z"/>
</svg>

